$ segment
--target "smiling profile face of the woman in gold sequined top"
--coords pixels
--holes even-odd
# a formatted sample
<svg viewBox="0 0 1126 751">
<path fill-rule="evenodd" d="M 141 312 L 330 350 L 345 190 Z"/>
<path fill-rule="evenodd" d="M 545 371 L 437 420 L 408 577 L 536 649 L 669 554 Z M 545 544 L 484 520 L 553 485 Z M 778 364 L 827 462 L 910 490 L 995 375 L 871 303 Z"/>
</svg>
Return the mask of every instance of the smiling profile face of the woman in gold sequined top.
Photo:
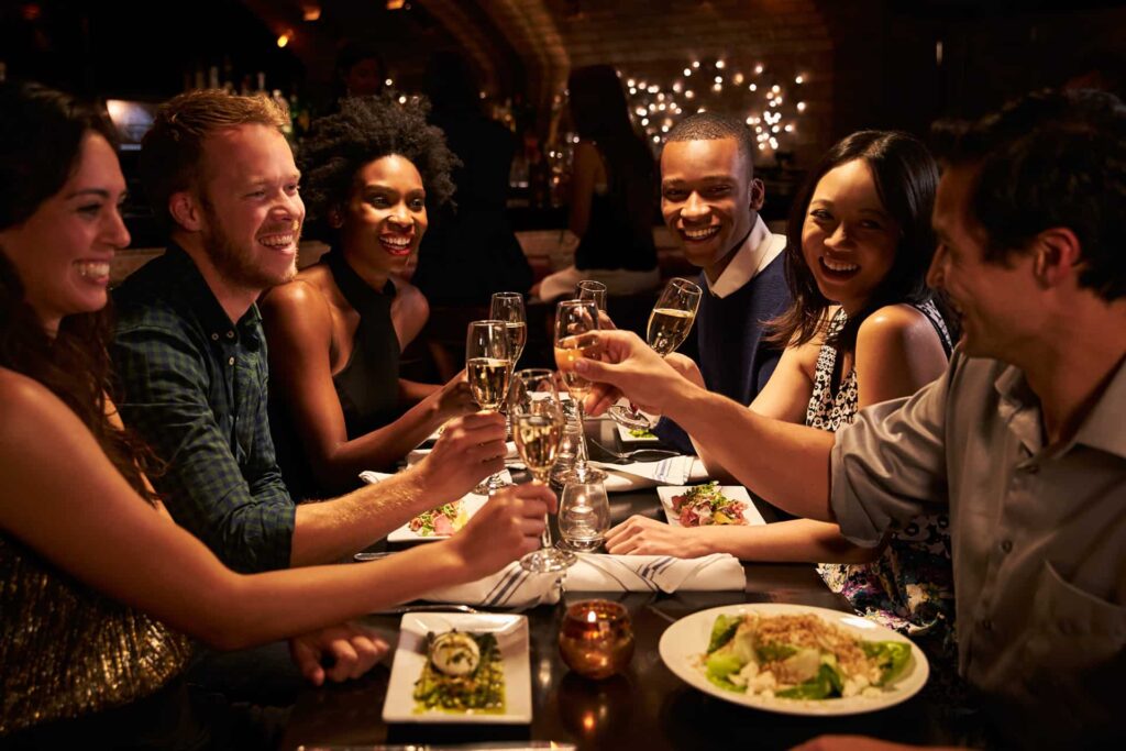
<svg viewBox="0 0 1126 751">
<path fill-rule="evenodd" d="M 47 331 L 57 331 L 65 315 L 105 307 L 109 262 L 129 244 L 118 211 L 124 196 L 117 154 L 88 133 L 62 189 L 24 223 L 0 231 L 0 249 Z"/>
</svg>

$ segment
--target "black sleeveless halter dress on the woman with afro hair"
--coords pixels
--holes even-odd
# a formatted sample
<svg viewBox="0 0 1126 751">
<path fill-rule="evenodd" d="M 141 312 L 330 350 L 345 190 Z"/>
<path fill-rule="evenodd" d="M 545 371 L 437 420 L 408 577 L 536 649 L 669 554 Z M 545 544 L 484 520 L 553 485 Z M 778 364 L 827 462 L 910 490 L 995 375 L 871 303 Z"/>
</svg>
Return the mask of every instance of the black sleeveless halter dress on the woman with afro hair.
<svg viewBox="0 0 1126 751">
<path fill-rule="evenodd" d="M 330 252 L 322 262 L 332 271 L 332 279 L 345 299 L 359 313 L 351 357 L 340 373 L 332 376 L 348 439 L 351 440 L 394 422 L 402 413 L 399 406 L 401 352 L 391 320 L 395 285 L 388 280 L 382 292 L 372 289 L 339 251 Z M 316 482 L 302 447 L 300 431 L 289 411 L 275 399 L 270 400 L 270 432 L 282 476 L 295 501 L 336 494 L 334 489 L 323 489 Z M 357 479 L 356 485 L 359 484 Z"/>
</svg>

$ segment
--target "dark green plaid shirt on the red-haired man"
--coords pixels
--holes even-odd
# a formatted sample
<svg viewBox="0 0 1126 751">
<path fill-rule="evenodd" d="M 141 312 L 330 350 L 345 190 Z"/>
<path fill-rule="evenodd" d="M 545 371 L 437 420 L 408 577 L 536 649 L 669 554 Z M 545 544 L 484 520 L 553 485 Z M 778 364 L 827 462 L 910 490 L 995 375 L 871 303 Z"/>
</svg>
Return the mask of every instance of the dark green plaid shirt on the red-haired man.
<svg viewBox="0 0 1126 751">
<path fill-rule="evenodd" d="M 266 417 L 257 305 L 234 325 L 176 245 L 114 293 L 122 418 L 169 463 L 155 479 L 172 517 L 229 566 L 289 566 L 295 507 Z"/>
</svg>

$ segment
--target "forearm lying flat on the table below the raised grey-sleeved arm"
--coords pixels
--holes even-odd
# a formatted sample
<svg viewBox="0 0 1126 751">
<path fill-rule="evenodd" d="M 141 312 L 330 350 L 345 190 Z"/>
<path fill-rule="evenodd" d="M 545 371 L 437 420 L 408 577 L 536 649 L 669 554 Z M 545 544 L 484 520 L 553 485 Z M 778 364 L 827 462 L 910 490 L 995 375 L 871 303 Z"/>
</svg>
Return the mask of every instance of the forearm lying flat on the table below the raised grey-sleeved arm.
<svg viewBox="0 0 1126 751">
<path fill-rule="evenodd" d="M 729 553 L 741 561 L 783 563 L 865 563 L 879 548 L 859 547 L 841 536 L 840 527 L 812 519 L 793 519 L 756 527 L 699 527 L 712 553 Z"/>
</svg>

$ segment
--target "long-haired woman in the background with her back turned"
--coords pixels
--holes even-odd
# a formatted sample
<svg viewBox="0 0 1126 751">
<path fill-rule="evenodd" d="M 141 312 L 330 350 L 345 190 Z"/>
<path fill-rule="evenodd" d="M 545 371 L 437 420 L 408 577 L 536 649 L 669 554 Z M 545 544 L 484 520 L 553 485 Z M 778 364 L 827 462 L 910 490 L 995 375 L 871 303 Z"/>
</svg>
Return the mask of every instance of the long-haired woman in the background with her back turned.
<svg viewBox="0 0 1126 751">
<path fill-rule="evenodd" d="M 574 266 L 539 283 L 543 299 L 571 295 L 596 279 L 611 295 L 652 289 L 660 281 L 653 221 L 656 171 L 629 120 L 617 72 L 578 68 L 568 79 L 571 119 L 579 133 L 571 176 L 568 229 L 579 239 Z"/>
</svg>

